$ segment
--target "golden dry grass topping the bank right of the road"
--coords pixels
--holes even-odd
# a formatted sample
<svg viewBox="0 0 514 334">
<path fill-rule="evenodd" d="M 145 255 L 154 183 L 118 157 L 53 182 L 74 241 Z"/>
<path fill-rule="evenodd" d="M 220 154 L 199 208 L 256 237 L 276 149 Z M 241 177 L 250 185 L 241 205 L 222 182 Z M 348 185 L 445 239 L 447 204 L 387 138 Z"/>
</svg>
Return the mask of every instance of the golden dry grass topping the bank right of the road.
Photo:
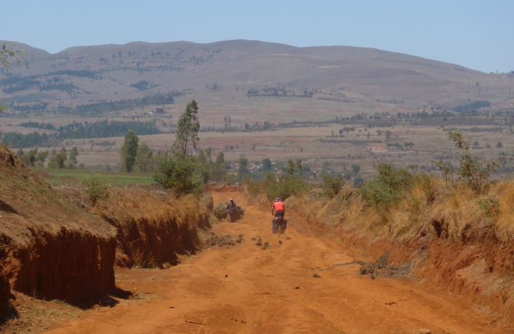
<svg viewBox="0 0 514 334">
<path fill-rule="evenodd" d="M 463 234 L 480 237 L 486 228 L 492 228 L 502 242 L 514 240 L 514 181 L 499 181 L 491 186 L 489 194 L 476 196 L 462 183 L 445 194 L 441 179 L 432 179 L 431 194 L 426 194 L 416 184 L 406 194 L 402 203 L 391 209 L 387 221 L 382 222 L 377 212 L 366 203 L 352 187 L 344 188 L 329 200 L 319 190 L 289 198 L 292 206 L 308 222 L 323 227 L 341 227 L 369 235 L 372 240 L 388 237 L 393 242 L 405 242 L 415 237 L 432 234 L 432 223 L 444 222 L 445 233 L 451 240 L 461 239 Z M 433 201 L 430 197 L 433 196 Z M 480 198 L 498 198 L 500 213 L 488 216 L 478 205 Z"/>
</svg>

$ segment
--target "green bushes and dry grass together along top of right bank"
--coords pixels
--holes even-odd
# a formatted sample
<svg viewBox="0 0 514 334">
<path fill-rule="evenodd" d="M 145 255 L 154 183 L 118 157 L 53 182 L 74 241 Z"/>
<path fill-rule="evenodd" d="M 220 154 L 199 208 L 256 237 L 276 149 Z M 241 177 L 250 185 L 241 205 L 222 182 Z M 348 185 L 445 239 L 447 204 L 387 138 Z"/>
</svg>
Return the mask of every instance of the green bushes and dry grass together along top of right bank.
<svg viewBox="0 0 514 334">
<path fill-rule="evenodd" d="M 439 229 L 436 225 L 442 220 L 452 237 L 460 237 L 464 229 L 491 227 L 504 242 L 513 240 L 514 184 L 491 179 L 502 155 L 497 159 L 473 155 L 471 139 L 458 129 L 444 131 L 461 155 L 454 162 L 455 170 L 452 164 L 433 161 L 442 177 L 419 172 L 417 165 L 395 168 L 380 161 L 376 175 L 357 185 L 345 183 L 343 177 L 322 175 L 309 189 L 299 177 L 269 174 L 264 181 L 245 179 L 245 187 L 260 201 L 294 198 L 290 204 L 310 222 L 336 224 L 373 237 L 424 237 Z"/>
</svg>

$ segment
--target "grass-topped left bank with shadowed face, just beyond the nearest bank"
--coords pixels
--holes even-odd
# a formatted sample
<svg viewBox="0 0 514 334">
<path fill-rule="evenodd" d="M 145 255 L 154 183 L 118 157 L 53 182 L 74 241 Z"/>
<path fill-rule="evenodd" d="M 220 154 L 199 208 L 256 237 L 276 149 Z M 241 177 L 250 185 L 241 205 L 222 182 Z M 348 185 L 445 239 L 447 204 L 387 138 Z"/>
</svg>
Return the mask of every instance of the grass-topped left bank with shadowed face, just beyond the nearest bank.
<svg viewBox="0 0 514 334">
<path fill-rule="evenodd" d="M 92 211 L 117 229 L 118 266 L 167 268 L 199 247 L 196 227 L 210 227 L 212 198 L 120 188 Z"/>
</svg>

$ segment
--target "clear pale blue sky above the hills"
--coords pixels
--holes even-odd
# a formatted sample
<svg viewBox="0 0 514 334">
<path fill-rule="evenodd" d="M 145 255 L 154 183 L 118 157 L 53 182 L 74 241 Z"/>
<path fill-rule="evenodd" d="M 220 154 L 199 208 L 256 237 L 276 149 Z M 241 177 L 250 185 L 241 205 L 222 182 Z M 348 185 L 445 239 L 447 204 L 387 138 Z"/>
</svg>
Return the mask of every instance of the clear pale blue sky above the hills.
<svg viewBox="0 0 514 334">
<path fill-rule="evenodd" d="M 510 72 L 513 14 L 514 0 L 25 0 L 2 4 L 0 39 L 51 53 L 134 41 L 348 45 Z"/>
</svg>

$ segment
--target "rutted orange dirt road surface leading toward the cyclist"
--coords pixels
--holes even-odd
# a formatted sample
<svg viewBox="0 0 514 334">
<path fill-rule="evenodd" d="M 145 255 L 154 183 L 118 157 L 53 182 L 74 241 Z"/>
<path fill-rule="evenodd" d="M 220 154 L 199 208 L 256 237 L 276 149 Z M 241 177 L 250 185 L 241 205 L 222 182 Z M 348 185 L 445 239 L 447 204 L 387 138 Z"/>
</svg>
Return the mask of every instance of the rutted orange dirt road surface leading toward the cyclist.
<svg viewBox="0 0 514 334">
<path fill-rule="evenodd" d="M 245 206 L 241 221 L 212 228 L 234 240 L 243 234 L 241 244 L 204 248 L 169 270 L 118 269 L 117 286 L 148 301 L 93 311 L 47 333 L 505 333 L 423 284 L 335 266 L 354 258 L 334 240 L 299 233 L 293 219 L 280 244 L 269 211 L 241 193 L 212 196 L 215 204 L 232 197 Z M 270 248 L 256 246 L 255 235 Z"/>
</svg>

